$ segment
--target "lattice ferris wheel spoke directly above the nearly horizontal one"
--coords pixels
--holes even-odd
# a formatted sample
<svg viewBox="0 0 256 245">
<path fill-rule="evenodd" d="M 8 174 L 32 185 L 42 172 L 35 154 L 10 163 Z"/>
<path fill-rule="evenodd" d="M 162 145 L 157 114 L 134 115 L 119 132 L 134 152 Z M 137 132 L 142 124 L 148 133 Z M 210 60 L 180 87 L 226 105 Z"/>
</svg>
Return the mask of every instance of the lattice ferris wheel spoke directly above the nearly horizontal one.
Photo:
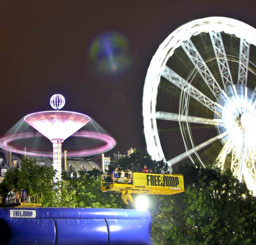
<svg viewBox="0 0 256 245">
<path fill-rule="evenodd" d="M 169 82 L 174 84 L 176 87 L 180 88 L 181 91 L 184 91 L 185 93 L 189 94 L 191 97 L 193 97 L 195 100 L 197 100 L 202 105 L 207 107 L 209 110 L 221 116 L 218 110 L 218 108 L 220 108 L 221 110 L 224 109 L 221 105 L 211 100 L 204 93 L 202 93 L 200 90 L 195 88 L 193 85 L 187 82 L 184 78 L 182 78 L 176 72 L 174 72 L 171 68 L 169 68 L 168 66 L 165 66 L 161 75 L 165 79 L 167 79 Z"/>
</svg>

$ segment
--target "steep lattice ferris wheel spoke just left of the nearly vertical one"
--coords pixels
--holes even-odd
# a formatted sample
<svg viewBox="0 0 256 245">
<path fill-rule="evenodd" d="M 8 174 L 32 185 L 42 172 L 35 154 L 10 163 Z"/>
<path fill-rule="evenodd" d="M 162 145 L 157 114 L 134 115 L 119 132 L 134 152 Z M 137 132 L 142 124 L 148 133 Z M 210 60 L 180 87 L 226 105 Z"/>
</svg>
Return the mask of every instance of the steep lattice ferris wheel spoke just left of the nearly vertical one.
<svg viewBox="0 0 256 245">
<path fill-rule="evenodd" d="M 212 31 L 209 32 L 209 35 L 212 41 L 212 47 L 215 53 L 216 61 L 218 63 L 219 74 L 221 75 L 222 84 L 225 90 L 227 86 L 233 85 L 233 81 L 221 33 Z"/>
</svg>

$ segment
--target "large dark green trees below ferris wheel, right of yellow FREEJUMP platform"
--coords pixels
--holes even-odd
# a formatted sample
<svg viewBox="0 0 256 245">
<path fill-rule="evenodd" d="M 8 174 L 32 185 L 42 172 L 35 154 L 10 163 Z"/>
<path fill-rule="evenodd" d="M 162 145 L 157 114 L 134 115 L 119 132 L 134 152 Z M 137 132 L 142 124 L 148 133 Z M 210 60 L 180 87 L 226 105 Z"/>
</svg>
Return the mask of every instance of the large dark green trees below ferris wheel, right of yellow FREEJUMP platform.
<svg viewBox="0 0 256 245">
<path fill-rule="evenodd" d="M 256 198 L 229 170 L 181 163 L 174 172 L 183 174 L 185 192 L 152 198 L 155 244 L 256 243 Z"/>
</svg>

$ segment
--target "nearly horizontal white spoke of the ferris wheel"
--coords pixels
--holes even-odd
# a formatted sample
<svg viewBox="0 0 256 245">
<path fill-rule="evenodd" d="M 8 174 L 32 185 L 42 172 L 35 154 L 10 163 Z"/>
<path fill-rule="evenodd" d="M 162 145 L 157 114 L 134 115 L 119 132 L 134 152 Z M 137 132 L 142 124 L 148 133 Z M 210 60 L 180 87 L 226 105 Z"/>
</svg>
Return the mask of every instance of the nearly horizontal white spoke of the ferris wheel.
<svg viewBox="0 0 256 245">
<path fill-rule="evenodd" d="M 155 118 L 159 120 L 199 123 L 199 124 L 209 124 L 209 125 L 223 124 L 223 120 L 221 119 L 209 119 L 204 117 L 187 116 L 187 115 L 181 115 L 181 114 L 165 112 L 165 111 L 157 111 L 155 113 Z"/>
</svg>

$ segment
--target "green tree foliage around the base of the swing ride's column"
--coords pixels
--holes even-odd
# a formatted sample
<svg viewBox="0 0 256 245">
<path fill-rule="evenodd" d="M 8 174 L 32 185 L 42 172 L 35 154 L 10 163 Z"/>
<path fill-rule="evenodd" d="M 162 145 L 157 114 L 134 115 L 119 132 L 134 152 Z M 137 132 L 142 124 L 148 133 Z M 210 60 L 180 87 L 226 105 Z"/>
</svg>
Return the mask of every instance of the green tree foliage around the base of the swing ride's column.
<svg viewBox="0 0 256 245">
<path fill-rule="evenodd" d="M 79 171 L 72 178 L 63 172 L 59 186 L 53 183 L 54 175 L 52 167 L 38 166 L 36 160 L 25 158 L 21 162 L 21 169 L 6 172 L 0 184 L 0 193 L 5 196 L 11 187 L 15 190 L 23 187 L 29 195 L 43 192 L 43 207 L 122 207 L 119 194 L 101 192 L 100 170 L 93 169 L 87 173 Z"/>
</svg>

